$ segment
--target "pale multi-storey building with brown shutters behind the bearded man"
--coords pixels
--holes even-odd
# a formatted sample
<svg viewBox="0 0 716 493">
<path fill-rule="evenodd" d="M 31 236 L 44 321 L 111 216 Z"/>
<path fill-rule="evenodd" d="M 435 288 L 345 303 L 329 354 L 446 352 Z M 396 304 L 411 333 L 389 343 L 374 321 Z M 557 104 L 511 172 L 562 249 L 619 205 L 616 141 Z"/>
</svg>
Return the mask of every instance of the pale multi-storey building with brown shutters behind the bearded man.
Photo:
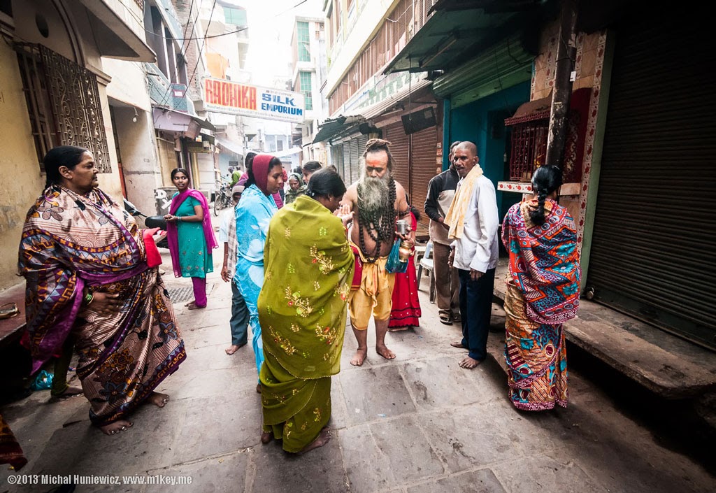
<svg viewBox="0 0 716 493">
<path fill-rule="evenodd" d="M 442 101 L 426 71 L 384 73 L 427 19 L 434 2 L 326 0 L 329 69 L 324 85 L 329 118 L 314 142 L 330 146 L 347 184 L 359 178 L 369 138 L 392 143 L 397 181 L 422 211 L 427 184 L 441 171 Z M 427 224 L 427 216 L 422 215 Z"/>
</svg>

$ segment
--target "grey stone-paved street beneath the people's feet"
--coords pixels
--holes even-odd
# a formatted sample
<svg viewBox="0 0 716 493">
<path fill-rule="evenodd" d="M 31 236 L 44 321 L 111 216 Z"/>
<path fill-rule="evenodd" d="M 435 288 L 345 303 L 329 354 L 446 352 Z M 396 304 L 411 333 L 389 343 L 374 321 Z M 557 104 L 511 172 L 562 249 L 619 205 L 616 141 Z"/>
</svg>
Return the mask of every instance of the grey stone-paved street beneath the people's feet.
<svg viewBox="0 0 716 493">
<path fill-rule="evenodd" d="M 166 256 L 165 256 L 166 257 Z M 215 254 L 215 259 L 220 255 Z M 169 271 L 169 259 L 163 268 Z M 210 274 L 206 310 L 177 303 L 188 359 L 160 386 L 163 409 L 142 406 L 135 426 L 105 436 L 89 426 L 84 398 L 48 403 L 49 391 L 1 408 L 29 458 L 24 474 L 190 476 L 184 486 L 105 487 L 88 492 L 712 492 L 714 477 L 665 449 L 649 429 L 624 416 L 594 383 L 570 373 L 569 408 L 516 411 L 495 360 L 458 367 L 450 348 L 457 326 L 437 322 L 423 279 L 421 327 L 390 333 L 394 361 L 371 348 L 362 368 L 349 365 L 356 342 L 347 328 L 342 370 L 333 378 L 332 439 L 304 456 L 261 445 L 261 405 L 251 347 L 233 356 L 231 289 Z M 169 287 L 183 279 L 165 275 Z M 499 310 L 495 309 L 499 315 Z M 500 317 L 493 318 L 499 325 Z M 499 347 L 499 332 L 490 334 Z M 374 331 L 369 331 L 369 346 Z M 498 349 L 493 349 L 493 353 Z M 11 486 L 0 492 L 47 492 Z"/>
</svg>

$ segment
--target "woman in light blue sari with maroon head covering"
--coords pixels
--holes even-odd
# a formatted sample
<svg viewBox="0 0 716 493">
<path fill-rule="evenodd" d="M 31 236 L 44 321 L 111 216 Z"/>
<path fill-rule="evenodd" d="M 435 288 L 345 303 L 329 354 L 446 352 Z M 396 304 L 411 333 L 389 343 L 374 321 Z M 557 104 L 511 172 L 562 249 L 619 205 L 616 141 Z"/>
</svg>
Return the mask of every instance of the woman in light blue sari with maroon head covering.
<svg viewBox="0 0 716 493">
<path fill-rule="evenodd" d="M 279 158 L 258 154 L 248 163 L 248 180 L 236 206 L 236 274 L 239 287 L 248 308 L 248 326 L 251 327 L 251 345 L 256 358 L 256 372 L 263 363 L 261 325 L 258 323 L 256 302 L 263 285 L 263 245 L 269 232 L 269 221 L 279 209 L 272 194 L 284 186 L 284 167 Z M 261 392 L 261 383 L 256 384 Z"/>
</svg>

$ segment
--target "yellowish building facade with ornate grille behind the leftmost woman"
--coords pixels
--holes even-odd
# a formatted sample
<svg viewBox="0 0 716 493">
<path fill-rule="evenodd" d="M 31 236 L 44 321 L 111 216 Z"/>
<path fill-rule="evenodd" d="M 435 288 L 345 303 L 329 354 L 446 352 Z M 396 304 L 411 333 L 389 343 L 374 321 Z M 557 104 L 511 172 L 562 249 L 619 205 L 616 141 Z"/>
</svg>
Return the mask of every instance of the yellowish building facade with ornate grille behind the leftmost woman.
<svg viewBox="0 0 716 493">
<path fill-rule="evenodd" d="M 26 212 L 44 188 L 47 150 L 88 148 L 100 168 L 100 187 L 122 196 L 116 141 L 117 129 L 128 123 L 121 110 L 113 118 L 112 107 L 131 91 L 110 73 L 115 59 L 132 67 L 155 61 L 145 42 L 143 8 L 142 0 L 0 3 L 0 172 L 12 181 L 0 190 L 0 289 L 19 281 L 17 247 Z M 137 97 L 137 112 L 147 107 L 142 95 L 131 97 Z M 128 168 L 135 169 L 139 155 L 127 149 Z"/>
</svg>

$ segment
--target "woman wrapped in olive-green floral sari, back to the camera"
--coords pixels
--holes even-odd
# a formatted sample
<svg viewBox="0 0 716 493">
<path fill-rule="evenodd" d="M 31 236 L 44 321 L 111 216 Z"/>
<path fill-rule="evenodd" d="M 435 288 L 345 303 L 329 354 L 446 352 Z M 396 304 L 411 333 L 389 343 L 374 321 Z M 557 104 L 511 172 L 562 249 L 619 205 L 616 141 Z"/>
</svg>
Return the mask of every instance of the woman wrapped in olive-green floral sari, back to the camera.
<svg viewBox="0 0 716 493">
<path fill-rule="evenodd" d="M 345 191 L 338 173 L 316 171 L 306 195 L 271 220 L 264 248 L 261 442 L 273 435 L 289 452 L 330 438 L 331 375 L 340 370 L 354 269 L 344 226 L 351 216 L 332 214 Z"/>
</svg>

